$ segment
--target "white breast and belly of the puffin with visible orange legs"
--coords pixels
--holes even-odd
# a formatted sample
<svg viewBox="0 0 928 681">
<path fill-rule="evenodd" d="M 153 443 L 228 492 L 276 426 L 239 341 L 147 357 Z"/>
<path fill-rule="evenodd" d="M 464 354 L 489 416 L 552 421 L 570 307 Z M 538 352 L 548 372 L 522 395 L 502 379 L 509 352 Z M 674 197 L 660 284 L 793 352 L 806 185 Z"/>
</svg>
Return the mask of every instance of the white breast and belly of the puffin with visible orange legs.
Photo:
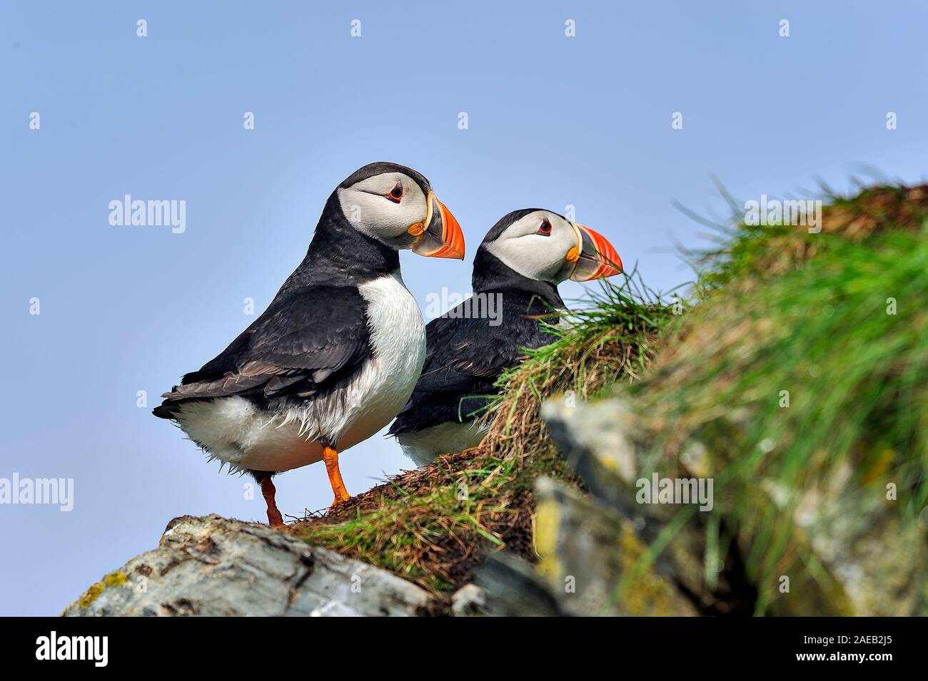
<svg viewBox="0 0 928 681">
<path fill-rule="evenodd" d="M 419 380 L 425 324 L 399 271 L 359 291 L 373 352 L 343 385 L 284 412 L 260 410 L 243 397 L 189 402 L 177 416 L 187 435 L 234 469 L 289 471 L 321 460 L 319 437 L 343 451 L 391 422 Z"/>
</svg>

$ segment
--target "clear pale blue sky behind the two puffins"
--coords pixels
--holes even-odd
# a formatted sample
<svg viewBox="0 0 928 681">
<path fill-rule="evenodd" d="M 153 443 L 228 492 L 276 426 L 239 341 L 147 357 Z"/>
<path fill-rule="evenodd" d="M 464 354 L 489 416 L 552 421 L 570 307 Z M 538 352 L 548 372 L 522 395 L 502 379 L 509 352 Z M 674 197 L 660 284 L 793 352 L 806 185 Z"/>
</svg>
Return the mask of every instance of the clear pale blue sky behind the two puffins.
<svg viewBox="0 0 928 681">
<path fill-rule="evenodd" d="M 423 307 L 469 291 L 474 248 L 514 208 L 575 206 L 666 290 L 690 279 L 677 244 L 707 244 L 673 203 L 726 214 L 714 177 L 741 200 L 925 177 L 922 3 L 328 5 L 2 10 L 0 478 L 73 478 L 74 508 L 0 505 L 0 614 L 60 612 L 174 516 L 264 520 L 249 479 L 149 410 L 251 322 L 246 297 L 264 309 L 369 161 L 425 174 L 467 237 L 463 263 L 402 254 Z M 111 226 L 125 194 L 185 200 L 186 231 Z M 380 436 L 342 456 L 352 492 L 408 467 Z M 320 466 L 277 489 L 284 513 L 331 498 Z"/>
</svg>

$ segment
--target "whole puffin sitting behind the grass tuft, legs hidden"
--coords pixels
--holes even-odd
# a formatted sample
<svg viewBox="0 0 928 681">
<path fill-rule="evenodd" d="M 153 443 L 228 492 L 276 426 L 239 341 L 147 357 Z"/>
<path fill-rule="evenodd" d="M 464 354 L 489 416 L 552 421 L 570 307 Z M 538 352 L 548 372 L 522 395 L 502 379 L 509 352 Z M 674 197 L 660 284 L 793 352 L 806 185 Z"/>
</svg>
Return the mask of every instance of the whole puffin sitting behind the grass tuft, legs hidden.
<svg viewBox="0 0 928 681">
<path fill-rule="evenodd" d="M 417 465 L 479 445 L 486 427 L 478 417 L 496 379 L 523 348 L 554 340 L 544 324 L 565 307 L 558 284 L 620 271 L 603 236 L 550 210 L 524 208 L 496 222 L 474 257 L 473 296 L 426 326 L 422 375 L 389 434 Z"/>
</svg>

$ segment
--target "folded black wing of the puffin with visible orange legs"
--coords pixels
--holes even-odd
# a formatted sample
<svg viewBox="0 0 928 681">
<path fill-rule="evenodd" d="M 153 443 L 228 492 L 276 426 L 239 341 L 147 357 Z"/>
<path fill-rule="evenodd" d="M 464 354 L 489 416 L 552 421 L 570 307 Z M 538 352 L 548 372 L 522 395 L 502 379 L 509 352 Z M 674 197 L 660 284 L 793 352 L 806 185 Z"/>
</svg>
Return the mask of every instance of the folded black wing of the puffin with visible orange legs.
<svg viewBox="0 0 928 681">
<path fill-rule="evenodd" d="M 371 354 L 367 301 L 354 286 L 306 286 L 275 300 L 198 372 L 165 393 L 156 416 L 190 399 L 309 397 Z"/>
</svg>

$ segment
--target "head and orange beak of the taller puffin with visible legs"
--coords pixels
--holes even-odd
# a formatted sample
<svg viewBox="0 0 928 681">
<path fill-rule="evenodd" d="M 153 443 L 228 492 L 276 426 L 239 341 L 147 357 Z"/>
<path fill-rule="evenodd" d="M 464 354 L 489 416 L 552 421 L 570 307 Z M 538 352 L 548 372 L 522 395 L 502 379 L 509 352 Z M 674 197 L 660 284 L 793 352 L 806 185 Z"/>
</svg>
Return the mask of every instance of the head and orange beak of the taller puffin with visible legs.
<svg viewBox="0 0 928 681">
<path fill-rule="evenodd" d="M 464 234 L 425 177 L 397 163 L 369 163 L 335 190 L 345 220 L 395 250 L 420 256 L 464 258 Z"/>
</svg>

